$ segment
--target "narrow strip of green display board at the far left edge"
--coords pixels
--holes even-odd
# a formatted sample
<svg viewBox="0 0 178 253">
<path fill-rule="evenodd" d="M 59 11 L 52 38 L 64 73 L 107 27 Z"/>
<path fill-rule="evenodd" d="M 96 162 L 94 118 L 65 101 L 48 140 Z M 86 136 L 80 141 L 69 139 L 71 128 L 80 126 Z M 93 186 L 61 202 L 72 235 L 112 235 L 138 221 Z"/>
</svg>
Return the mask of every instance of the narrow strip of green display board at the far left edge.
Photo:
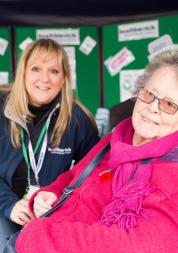
<svg viewBox="0 0 178 253">
<path fill-rule="evenodd" d="M 11 66 L 10 30 L 7 27 L 0 27 L 0 85 L 11 82 Z"/>
</svg>

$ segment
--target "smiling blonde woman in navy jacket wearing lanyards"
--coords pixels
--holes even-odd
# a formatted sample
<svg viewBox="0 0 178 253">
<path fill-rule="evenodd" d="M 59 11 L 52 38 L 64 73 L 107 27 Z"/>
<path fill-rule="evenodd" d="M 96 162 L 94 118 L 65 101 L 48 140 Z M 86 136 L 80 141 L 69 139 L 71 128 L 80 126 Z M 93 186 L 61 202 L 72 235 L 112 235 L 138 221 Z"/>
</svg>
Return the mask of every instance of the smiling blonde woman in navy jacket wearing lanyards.
<svg viewBox="0 0 178 253">
<path fill-rule="evenodd" d="M 40 39 L 23 52 L 12 89 L 1 94 L 0 244 L 34 215 L 27 199 L 98 142 L 89 111 L 72 93 L 65 50 Z M 1 231 L 2 230 L 2 231 Z"/>
</svg>

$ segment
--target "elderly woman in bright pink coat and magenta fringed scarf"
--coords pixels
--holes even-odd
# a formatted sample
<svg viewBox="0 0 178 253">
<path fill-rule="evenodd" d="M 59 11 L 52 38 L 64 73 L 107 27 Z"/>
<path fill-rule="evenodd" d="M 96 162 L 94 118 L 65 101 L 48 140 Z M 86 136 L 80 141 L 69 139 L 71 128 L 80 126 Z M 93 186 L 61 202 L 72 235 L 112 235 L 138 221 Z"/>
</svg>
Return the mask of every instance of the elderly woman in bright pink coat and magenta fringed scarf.
<svg viewBox="0 0 178 253">
<path fill-rule="evenodd" d="M 63 206 L 23 229 L 18 253 L 178 251 L 178 52 L 156 56 L 137 85 L 132 118 L 33 195 L 30 208 L 39 217 L 110 142 L 110 151 Z"/>
</svg>

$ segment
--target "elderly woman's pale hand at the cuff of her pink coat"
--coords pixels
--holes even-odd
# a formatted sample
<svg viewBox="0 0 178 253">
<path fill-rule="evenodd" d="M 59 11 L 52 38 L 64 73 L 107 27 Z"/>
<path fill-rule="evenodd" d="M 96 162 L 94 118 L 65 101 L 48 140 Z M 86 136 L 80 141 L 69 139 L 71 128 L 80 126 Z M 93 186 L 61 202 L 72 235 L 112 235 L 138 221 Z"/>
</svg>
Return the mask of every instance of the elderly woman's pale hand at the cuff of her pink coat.
<svg viewBox="0 0 178 253">
<path fill-rule="evenodd" d="M 34 198 L 33 210 L 36 217 L 40 217 L 52 208 L 52 204 L 57 200 L 53 192 L 41 191 Z"/>
</svg>

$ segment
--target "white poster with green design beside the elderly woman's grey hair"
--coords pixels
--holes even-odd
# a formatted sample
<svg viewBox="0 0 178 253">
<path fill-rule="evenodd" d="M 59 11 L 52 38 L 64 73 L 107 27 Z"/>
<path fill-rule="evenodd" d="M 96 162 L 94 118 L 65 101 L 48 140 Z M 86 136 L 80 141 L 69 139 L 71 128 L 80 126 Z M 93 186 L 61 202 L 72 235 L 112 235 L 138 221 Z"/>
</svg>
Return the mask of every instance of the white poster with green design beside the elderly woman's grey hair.
<svg viewBox="0 0 178 253">
<path fill-rule="evenodd" d="M 120 72 L 120 100 L 125 101 L 136 95 L 135 81 L 144 69 L 122 70 Z"/>
</svg>

